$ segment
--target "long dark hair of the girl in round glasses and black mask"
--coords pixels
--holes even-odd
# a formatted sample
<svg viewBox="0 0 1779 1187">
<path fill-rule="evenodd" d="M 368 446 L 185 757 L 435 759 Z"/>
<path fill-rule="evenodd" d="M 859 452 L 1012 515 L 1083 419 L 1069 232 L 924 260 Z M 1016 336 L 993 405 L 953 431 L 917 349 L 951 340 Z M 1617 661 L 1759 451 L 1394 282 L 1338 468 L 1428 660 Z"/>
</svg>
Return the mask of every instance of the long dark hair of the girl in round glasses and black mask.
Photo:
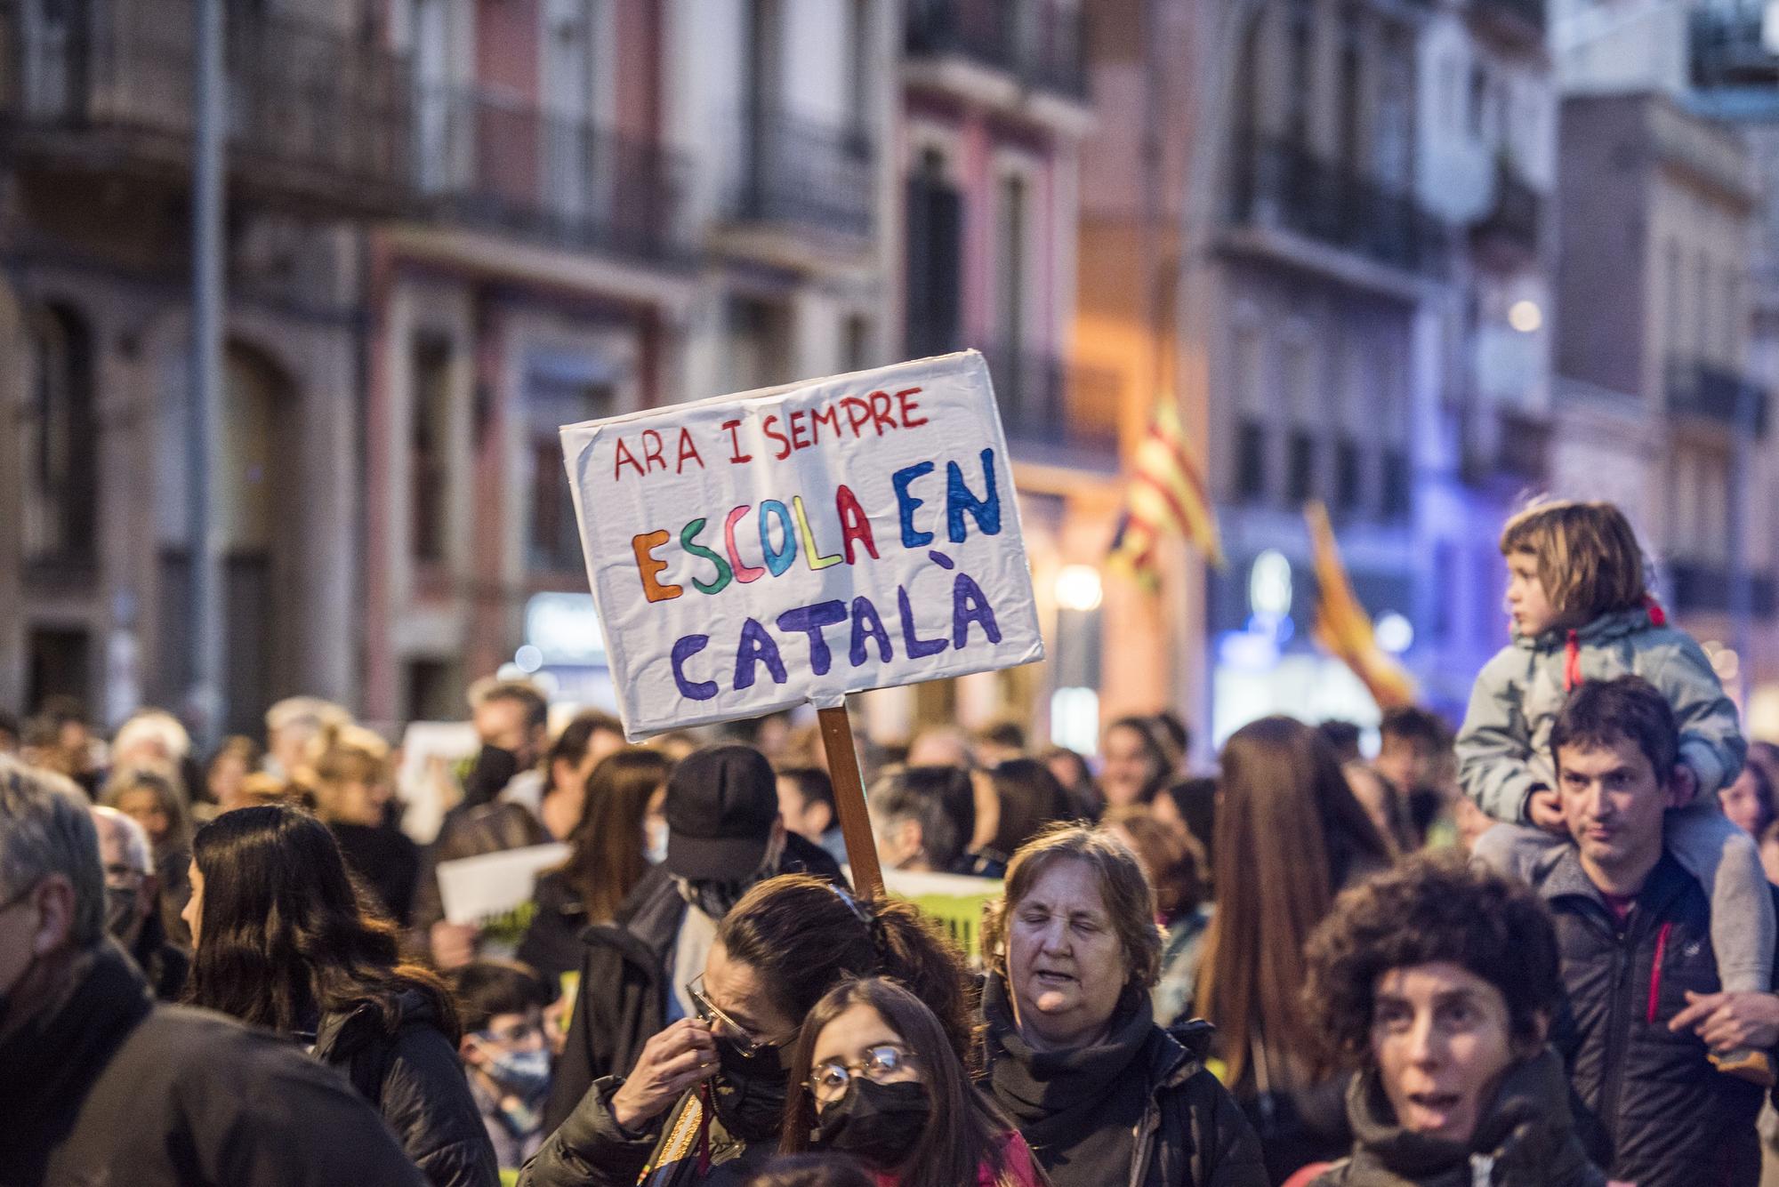
<svg viewBox="0 0 1779 1187">
<path fill-rule="evenodd" d="M 1007 1173 L 1003 1135 L 1012 1132 L 1012 1121 L 993 1100 L 977 1091 L 934 1013 L 888 977 L 843 981 L 809 1011 L 790 1056 L 790 1082 L 795 1087 L 785 1107 L 779 1148 L 786 1153 L 809 1150 L 815 1100 L 802 1084 L 809 1079 L 815 1040 L 829 1022 L 854 1006 L 870 1006 L 902 1038 L 929 1093 L 927 1125 L 922 1127 L 902 1166 L 893 1167 L 897 1183 L 900 1187 L 975 1183 L 984 1162 L 993 1167 L 996 1180 L 1002 1180 Z"/>
</svg>

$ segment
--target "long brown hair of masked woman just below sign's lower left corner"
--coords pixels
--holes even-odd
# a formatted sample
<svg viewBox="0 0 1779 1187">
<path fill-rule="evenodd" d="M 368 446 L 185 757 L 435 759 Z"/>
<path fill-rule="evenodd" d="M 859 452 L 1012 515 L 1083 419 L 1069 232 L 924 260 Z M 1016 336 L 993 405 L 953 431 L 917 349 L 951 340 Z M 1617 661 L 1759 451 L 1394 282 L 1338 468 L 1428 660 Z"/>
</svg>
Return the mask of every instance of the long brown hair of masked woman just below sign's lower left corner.
<svg viewBox="0 0 1779 1187">
<path fill-rule="evenodd" d="M 587 803 L 569 835 L 569 855 L 557 869 L 575 887 L 589 922 L 617 915 L 617 906 L 649 872 L 642 819 L 672 771 L 660 750 L 624 746 L 600 759 L 587 777 Z"/>
</svg>

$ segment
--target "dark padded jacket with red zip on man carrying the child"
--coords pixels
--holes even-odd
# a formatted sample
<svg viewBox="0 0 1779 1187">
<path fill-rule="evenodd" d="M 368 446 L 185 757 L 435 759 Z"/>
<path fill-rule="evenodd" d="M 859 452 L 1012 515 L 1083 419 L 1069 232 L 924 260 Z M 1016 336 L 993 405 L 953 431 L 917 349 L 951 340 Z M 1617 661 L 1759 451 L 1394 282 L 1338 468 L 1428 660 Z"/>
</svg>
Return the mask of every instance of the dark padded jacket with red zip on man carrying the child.
<svg viewBox="0 0 1779 1187">
<path fill-rule="evenodd" d="M 1551 1045 L 1589 1157 L 1637 1187 L 1752 1183 L 1759 1087 L 1717 1071 L 1692 1031 L 1669 1031 L 1688 990 L 1720 988 L 1704 890 L 1663 855 L 1619 922 L 1573 846 L 1532 885 L 1557 920 L 1566 1002 Z"/>
</svg>

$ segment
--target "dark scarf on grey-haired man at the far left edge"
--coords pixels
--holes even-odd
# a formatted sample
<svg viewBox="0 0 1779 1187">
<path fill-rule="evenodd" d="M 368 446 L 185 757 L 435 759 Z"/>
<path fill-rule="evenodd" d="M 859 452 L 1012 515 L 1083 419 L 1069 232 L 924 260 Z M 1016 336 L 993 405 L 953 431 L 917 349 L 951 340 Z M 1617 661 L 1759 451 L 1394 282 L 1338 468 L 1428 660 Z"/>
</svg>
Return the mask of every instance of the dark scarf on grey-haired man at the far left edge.
<svg viewBox="0 0 1779 1187">
<path fill-rule="evenodd" d="M 153 1006 L 142 974 L 114 940 L 76 960 L 62 993 L 0 1041 L 0 1166 L 25 1171 L 48 1155 Z"/>
</svg>

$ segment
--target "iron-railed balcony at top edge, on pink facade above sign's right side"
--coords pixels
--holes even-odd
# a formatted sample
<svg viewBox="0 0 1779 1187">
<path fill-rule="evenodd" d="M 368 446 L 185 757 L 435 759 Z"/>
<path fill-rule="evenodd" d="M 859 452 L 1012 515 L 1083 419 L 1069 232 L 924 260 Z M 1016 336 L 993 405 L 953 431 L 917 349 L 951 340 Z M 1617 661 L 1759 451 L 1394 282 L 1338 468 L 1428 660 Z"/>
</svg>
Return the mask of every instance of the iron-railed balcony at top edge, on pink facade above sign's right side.
<svg viewBox="0 0 1779 1187">
<path fill-rule="evenodd" d="M 1087 7 L 1059 0 L 909 0 L 911 60 L 961 57 L 1034 91 L 1087 100 Z"/>
</svg>

